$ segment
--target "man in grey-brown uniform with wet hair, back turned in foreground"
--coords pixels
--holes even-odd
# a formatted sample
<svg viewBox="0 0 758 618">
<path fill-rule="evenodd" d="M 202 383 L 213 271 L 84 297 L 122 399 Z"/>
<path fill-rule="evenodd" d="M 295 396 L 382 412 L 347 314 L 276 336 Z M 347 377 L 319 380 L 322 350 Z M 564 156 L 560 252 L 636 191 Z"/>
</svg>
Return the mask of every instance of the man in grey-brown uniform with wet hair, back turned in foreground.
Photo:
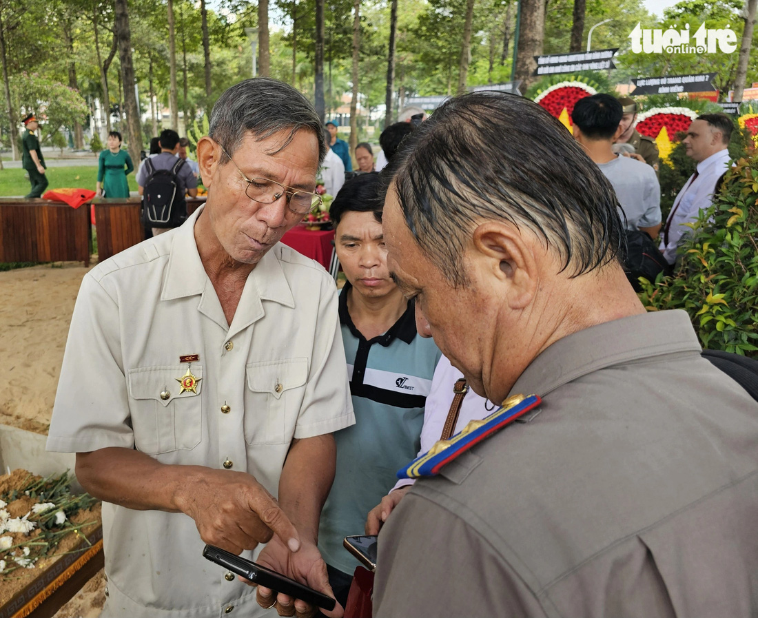
<svg viewBox="0 0 758 618">
<path fill-rule="evenodd" d="M 503 93 L 450 99 L 391 165 L 418 332 L 477 394 L 543 402 L 402 499 L 374 616 L 758 615 L 758 403 L 687 313 L 645 312 L 597 165 Z"/>
</svg>

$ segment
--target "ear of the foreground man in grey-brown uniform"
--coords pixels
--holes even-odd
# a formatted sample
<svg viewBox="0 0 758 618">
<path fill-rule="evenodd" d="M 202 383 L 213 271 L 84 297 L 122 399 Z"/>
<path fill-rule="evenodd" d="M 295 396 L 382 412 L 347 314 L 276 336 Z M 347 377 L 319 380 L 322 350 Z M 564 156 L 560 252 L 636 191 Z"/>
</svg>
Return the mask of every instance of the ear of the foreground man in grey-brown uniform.
<svg viewBox="0 0 758 618">
<path fill-rule="evenodd" d="M 505 221 L 486 221 L 472 235 L 473 262 L 500 287 L 511 309 L 524 309 L 537 293 L 537 237 Z"/>
</svg>

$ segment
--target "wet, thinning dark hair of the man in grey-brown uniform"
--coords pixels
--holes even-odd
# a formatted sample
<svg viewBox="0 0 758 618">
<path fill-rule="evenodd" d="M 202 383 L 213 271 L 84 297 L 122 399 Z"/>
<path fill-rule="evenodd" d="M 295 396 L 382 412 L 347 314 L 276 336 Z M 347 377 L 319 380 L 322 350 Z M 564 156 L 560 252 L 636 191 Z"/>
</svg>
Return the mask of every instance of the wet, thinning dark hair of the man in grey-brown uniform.
<svg viewBox="0 0 758 618">
<path fill-rule="evenodd" d="M 448 99 L 381 173 L 421 251 L 465 287 L 478 222 L 531 230 L 577 276 L 619 259 L 625 231 L 613 187 L 539 105 L 505 93 Z"/>
</svg>

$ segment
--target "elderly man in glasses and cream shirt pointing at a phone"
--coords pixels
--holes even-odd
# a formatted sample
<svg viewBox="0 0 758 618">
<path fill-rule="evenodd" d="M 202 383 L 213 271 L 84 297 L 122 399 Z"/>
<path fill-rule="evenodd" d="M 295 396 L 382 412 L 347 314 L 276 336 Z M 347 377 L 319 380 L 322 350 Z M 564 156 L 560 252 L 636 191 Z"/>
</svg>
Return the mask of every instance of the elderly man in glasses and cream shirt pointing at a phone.
<svg viewBox="0 0 758 618">
<path fill-rule="evenodd" d="M 48 448 L 104 500 L 106 616 L 313 613 L 204 543 L 330 594 L 318 519 L 354 422 L 337 293 L 278 243 L 320 199 L 322 143 L 296 90 L 236 84 L 198 144 L 205 207 L 83 280 Z"/>
</svg>

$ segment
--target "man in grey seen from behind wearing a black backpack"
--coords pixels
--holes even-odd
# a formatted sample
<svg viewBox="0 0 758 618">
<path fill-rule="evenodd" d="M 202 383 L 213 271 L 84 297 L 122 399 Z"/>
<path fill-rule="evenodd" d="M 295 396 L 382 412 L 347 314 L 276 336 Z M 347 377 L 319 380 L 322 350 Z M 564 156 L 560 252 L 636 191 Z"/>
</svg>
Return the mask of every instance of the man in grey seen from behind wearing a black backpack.
<svg viewBox="0 0 758 618">
<path fill-rule="evenodd" d="M 197 195 L 197 178 L 183 158 L 177 157 L 179 133 L 164 129 L 158 137 L 161 153 L 146 158 L 137 172 L 142 217 L 152 234 L 179 227 L 187 218 L 185 194 Z"/>
</svg>

